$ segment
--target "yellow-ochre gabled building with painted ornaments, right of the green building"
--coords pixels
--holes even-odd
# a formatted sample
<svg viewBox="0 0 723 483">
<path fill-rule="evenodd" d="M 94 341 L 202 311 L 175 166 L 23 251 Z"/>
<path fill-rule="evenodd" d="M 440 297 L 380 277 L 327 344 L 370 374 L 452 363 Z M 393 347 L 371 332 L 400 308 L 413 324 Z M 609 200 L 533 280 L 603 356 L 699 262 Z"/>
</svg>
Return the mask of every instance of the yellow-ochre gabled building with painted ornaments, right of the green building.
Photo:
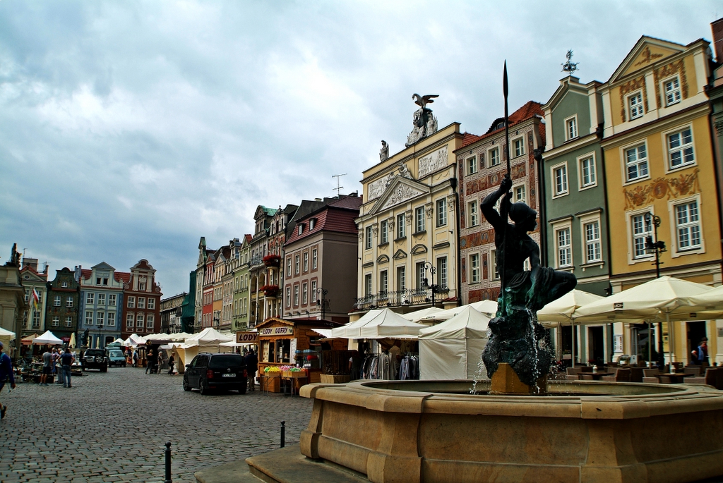
<svg viewBox="0 0 723 483">
<path fill-rule="evenodd" d="M 716 167 L 703 87 L 709 43 L 688 45 L 642 37 L 602 85 L 604 169 L 612 292 L 656 277 L 650 244 L 664 242 L 661 275 L 719 285 L 721 227 Z M 656 227 L 656 225 L 659 225 Z M 643 355 L 646 326 L 616 323 L 615 356 Z M 656 347 L 661 334 L 654 334 Z M 711 359 L 722 361 L 715 321 L 680 321 L 674 353 L 688 362 L 702 336 Z M 662 324 L 668 352 L 668 328 Z"/>
</svg>

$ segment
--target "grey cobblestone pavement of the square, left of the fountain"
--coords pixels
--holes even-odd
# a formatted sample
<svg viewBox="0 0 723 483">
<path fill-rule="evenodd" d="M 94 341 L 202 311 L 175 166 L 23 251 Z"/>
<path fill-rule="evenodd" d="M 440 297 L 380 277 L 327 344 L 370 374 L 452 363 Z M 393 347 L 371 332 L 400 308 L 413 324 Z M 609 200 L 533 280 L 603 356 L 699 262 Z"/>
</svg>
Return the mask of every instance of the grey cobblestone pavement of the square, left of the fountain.
<svg viewBox="0 0 723 483">
<path fill-rule="evenodd" d="M 208 466 L 299 441 L 310 399 L 184 392 L 180 375 L 111 367 L 73 378 L 72 388 L 18 384 L 0 401 L 0 482 L 163 482 L 171 441 L 173 480 L 193 482 Z"/>
</svg>

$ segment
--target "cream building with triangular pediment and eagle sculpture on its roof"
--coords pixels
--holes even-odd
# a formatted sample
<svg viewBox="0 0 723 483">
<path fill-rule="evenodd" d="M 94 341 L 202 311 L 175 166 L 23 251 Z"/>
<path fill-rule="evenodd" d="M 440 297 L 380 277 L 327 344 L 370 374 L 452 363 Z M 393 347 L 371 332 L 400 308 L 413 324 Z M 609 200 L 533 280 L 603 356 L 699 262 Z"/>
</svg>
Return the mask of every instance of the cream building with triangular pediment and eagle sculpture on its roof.
<svg viewBox="0 0 723 483">
<path fill-rule="evenodd" d="M 372 308 L 406 313 L 432 305 L 451 308 L 458 297 L 455 149 L 459 124 L 414 137 L 364 171 L 359 228 L 358 298 L 351 321 Z M 415 117 L 416 119 L 416 117 Z M 427 121 L 431 125 L 432 121 Z M 388 149 L 388 148 L 387 148 Z M 425 283 L 426 279 L 426 283 Z"/>
</svg>

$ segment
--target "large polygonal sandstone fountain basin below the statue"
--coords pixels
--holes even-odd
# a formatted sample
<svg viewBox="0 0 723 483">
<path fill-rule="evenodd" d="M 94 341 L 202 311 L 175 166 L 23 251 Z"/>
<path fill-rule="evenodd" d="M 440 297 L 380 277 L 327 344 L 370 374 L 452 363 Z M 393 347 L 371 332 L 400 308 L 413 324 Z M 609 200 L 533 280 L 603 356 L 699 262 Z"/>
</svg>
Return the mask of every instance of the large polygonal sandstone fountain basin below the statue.
<svg viewBox="0 0 723 483">
<path fill-rule="evenodd" d="M 301 453 L 376 483 L 693 482 L 723 475 L 723 393 L 549 381 L 547 396 L 470 380 L 309 384 Z M 477 383 L 489 391 L 489 381 Z"/>
</svg>

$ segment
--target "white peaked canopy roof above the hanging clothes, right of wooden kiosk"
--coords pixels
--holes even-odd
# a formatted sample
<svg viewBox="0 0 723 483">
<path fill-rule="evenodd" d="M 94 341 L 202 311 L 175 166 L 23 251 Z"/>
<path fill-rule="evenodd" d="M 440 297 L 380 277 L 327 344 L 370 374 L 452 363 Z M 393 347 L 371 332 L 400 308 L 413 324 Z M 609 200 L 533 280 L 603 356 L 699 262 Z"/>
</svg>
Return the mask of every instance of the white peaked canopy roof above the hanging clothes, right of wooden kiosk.
<svg viewBox="0 0 723 483">
<path fill-rule="evenodd" d="M 331 336 L 343 339 L 414 339 L 426 326 L 411 322 L 388 308 L 369 310 L 358 321 L 333 328 Z"/>
</svg>

